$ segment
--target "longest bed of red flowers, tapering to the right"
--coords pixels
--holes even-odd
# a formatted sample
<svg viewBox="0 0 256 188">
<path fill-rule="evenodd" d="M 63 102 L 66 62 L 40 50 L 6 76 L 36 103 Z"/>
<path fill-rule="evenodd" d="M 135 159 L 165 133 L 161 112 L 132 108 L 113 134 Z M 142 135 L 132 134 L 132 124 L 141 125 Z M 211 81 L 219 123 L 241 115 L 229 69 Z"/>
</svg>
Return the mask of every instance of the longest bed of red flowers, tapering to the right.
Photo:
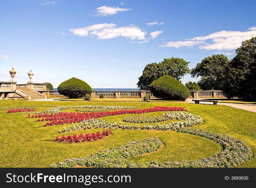
<svg viewBox="0 0 256 188">
<path fill-rule="evenodd" d="M 58 114 L 35 114 L 31 117 L 45 117 L 38 119 L 37 121 L 50 121 L 45 123 L 44 126 L 53 126 L 64 123 L 77 123 L 87 119 L 100 118 L 106 116 L 115 116 L 123 114 L 142 114 L 147 112 L 161 112 L 161 111 L 186 111 L 186 109 L 181 107 L 163 107 L 156 106 L 154 108 L 145 108 L 145 109 L 134 109 L 134 110 L 118 110 L 118 111 L 104 111 L 104 112 L 61 112 Z M 28 115 L 30 117 L 30 115 Z"/>
</svg>

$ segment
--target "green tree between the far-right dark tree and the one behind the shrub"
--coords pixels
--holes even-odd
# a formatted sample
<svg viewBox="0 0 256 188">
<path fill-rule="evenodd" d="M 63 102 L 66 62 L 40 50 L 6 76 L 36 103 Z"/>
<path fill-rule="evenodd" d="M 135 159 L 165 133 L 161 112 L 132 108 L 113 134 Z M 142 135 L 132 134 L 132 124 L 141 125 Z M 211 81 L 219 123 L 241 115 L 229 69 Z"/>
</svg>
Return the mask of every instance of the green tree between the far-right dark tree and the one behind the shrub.
<svg viewBox="0 0 256 188">
<path fill-rule="evenodd" d="M 192 77 L 201 76 L 198 81 L 203 90 L 219 90 L 223 84 L 223 71 L 230 61 L 225 55 L 212 55 L 204 58 L 191 70 Z"/>
</svg>

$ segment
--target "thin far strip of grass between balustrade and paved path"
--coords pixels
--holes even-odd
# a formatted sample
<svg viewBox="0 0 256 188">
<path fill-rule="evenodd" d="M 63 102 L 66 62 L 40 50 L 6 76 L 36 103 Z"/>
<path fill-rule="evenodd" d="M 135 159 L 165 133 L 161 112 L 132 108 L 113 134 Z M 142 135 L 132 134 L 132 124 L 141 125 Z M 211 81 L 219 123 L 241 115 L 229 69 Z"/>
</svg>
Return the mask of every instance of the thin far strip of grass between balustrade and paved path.
<svg viewBox="0 0 256 188">
<path fill-rule="evenodd" d="M 56 101 L 85 101 L 84 99 L 54 99 Z M 164 102 L 164 103 L 169 103 L 169 102 L 182 102 L 182 101 L 164 101 L 161 99 L 150 99 L 149 101 L 144 101 L 143 99 L 130 99 L 130 98 L 120 98 L 120 99 L 115 99 L 115 98 L 104 98 L 104 99 L 99 99 L 99 98 L 91 98 L 90 101 L 87 102 Z"/>
</svg>

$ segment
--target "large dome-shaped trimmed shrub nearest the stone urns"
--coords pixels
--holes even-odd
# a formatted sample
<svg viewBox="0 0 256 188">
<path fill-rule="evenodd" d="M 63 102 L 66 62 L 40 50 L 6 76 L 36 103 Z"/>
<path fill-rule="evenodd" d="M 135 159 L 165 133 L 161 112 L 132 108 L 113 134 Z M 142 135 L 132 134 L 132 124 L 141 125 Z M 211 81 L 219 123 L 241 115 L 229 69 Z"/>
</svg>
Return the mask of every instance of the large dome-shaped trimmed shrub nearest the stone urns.
<svg viewBox="0 0 256 188">
<path fill-rule="evenodd" d="M 86 94 L 92 93 L 92 88 L 85 81 L 70 78 L 58 86 L 58 92 L 70 99 L 83 98 Z"/>
</svg>

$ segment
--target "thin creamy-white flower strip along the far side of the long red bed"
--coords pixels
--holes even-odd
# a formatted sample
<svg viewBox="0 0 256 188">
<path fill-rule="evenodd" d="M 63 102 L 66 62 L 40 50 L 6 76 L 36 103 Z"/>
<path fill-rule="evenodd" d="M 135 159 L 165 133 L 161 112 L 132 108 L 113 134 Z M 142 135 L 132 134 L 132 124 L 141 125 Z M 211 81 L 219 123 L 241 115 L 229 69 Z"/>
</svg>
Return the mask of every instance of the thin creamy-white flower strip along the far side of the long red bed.
<svg viewBox="0 0 256 188">
<path fill-rule="evenodd" d="M 61 113 L 61 110 L 70 108 L 102 108 L 105 110 L 124 110 L 135 109 L 138 106 L 104 106 L 104 105 L 78 105 L 78 106 L 56 106 L 54 108 L 47 109 L 46 111 L 38 112 L 38 114 L 57 114 Z"/>
</svg>

